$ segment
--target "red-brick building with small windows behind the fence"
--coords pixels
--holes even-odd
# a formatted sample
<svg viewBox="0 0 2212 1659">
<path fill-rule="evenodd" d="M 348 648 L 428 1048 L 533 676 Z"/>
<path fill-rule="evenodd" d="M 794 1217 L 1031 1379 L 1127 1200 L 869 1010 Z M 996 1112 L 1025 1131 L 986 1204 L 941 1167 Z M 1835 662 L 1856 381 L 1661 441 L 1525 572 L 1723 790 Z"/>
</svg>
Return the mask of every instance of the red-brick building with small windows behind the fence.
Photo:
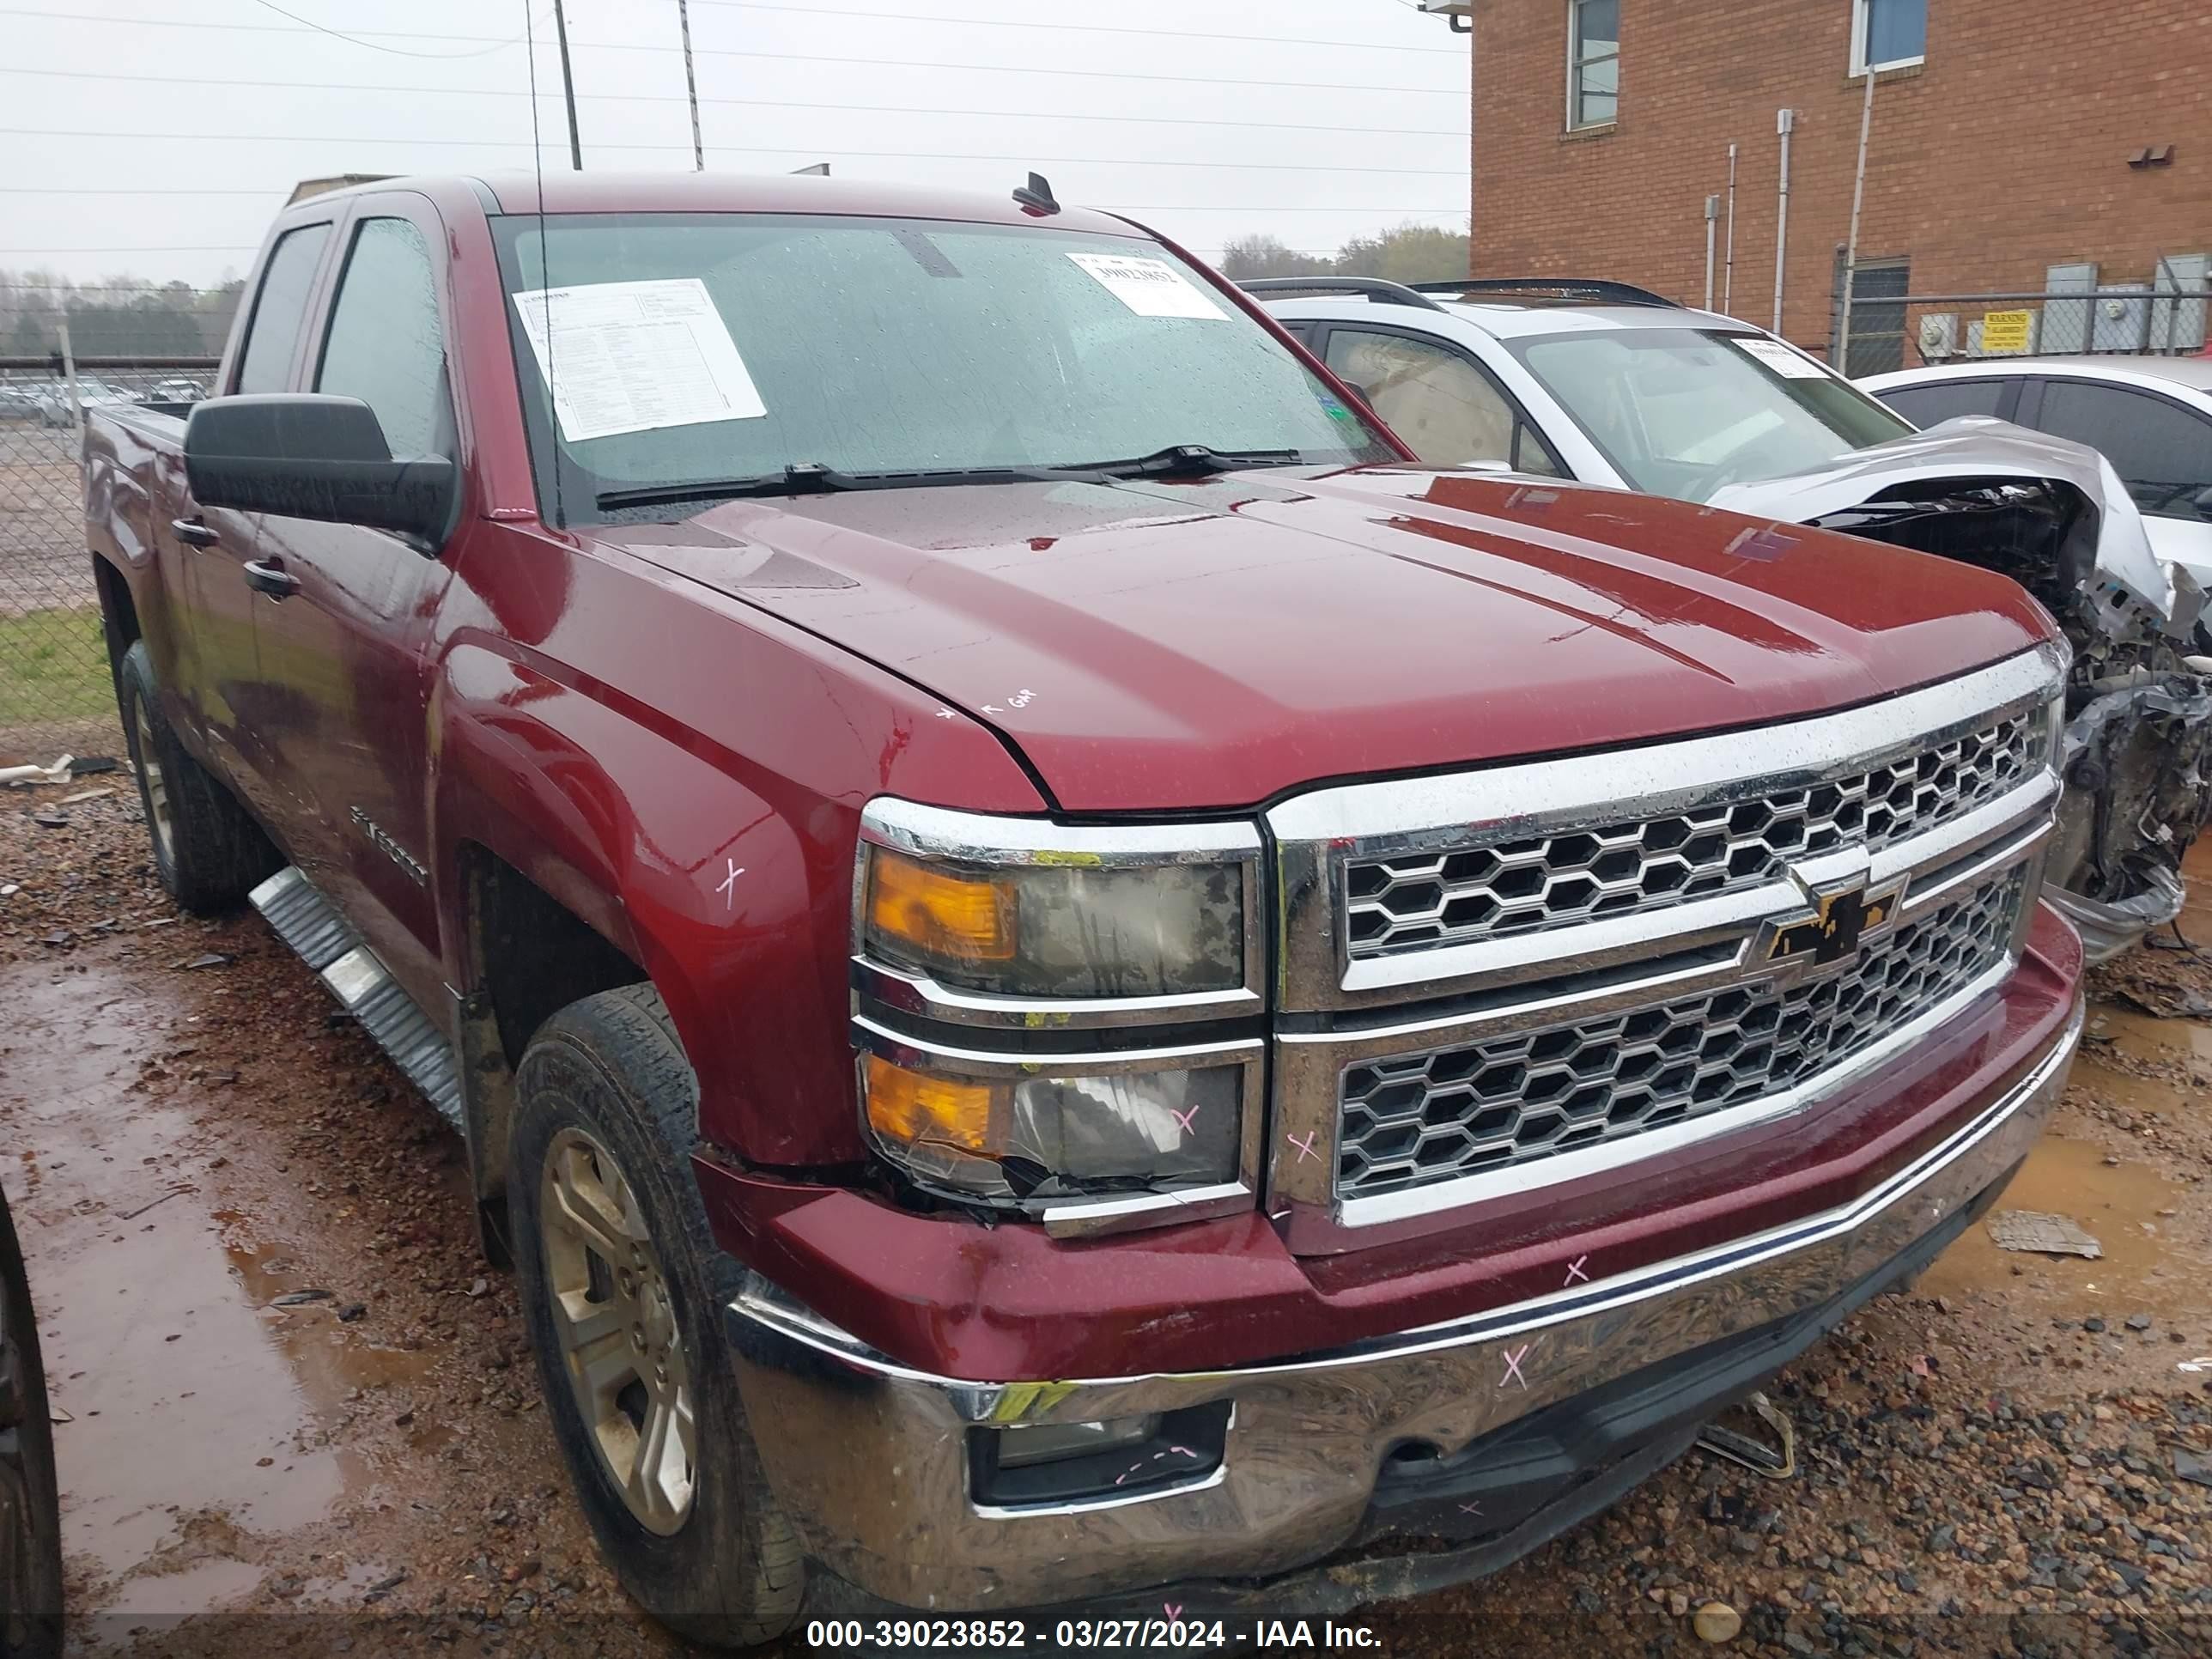
<svg viewBox="0 0 2212 1659">
<path fill-rule="evenodd" d="M 2183 290 L 2201 292 L 2212 254 L 2205 0 L 1429 0 L 1429 9 L 1458 11 L 1473 31 L 1478 276 L 1615 276 L 1699 303 L 1705 197 L 1723 195 L 1725 241 L 1734 144 L 1732 310 L 1770 323 L 1776 113 L 1787 108 L 1783 332 L 1825 349 L 1871 55 L 1860 294 L 2044 292 L 2088 285 L 2086 265 L 2104 288 L 2148 285 L 2161 254 Z M 1723 283 L 1717 276 L 1714 303 Z M 1980 316 L 1971 305 L 1949 310 Z M 2088 325 L 2079 301 L 2064 310 L 2075 332 Z M 2161 330 L 2177 310 L 2194 312 L 2183 323 L 2201 336 L 2201 305 L 2154 310 Z M 2051 310 L 2044 345 L 2068 349 L 2059 312 Z M 2146 303 L 2141 314 L 2150 312 Z M 2124 321 L 2115 310 L 2097 327 Z M 1916 332 L 1918 323 L 1916 314 Z M 1893 367 L 1905 327 L 1902 307 L 1856 307 L 1854 372 Z"/>
</svg>

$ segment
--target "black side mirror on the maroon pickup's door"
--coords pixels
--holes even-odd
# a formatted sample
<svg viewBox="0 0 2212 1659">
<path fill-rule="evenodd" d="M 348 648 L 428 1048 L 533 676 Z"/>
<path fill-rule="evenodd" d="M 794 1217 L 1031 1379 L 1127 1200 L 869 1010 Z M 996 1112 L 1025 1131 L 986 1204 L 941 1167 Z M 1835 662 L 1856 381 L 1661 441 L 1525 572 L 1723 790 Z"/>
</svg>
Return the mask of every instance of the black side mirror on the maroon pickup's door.
<svg viewBox="0 0 2212 1659">
<path fill-rule="evenodd" d="M 241 394 L 192 405 L 184 476 L 201 507 L 365 524 L 436 553 L 453 533 L 460 469 L 394 460 L 376 411 L 321 392 Z"/>
</svg>

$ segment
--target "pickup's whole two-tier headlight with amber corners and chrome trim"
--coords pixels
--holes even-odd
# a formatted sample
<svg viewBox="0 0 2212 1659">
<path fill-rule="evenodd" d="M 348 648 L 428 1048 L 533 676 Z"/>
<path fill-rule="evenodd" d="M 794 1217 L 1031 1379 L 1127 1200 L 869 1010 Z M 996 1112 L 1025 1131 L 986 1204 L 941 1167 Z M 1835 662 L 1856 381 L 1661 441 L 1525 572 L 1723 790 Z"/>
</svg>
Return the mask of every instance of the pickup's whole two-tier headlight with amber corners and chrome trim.
<svg viewBox="0 0 2212 1659">
<path fill-rule="evenodd" d="M 1053 825 L 880 799 L 854 872 L 869 1144 L 1053 1230 L 1252 1201 L 1252 825 Z"/>
</svg>

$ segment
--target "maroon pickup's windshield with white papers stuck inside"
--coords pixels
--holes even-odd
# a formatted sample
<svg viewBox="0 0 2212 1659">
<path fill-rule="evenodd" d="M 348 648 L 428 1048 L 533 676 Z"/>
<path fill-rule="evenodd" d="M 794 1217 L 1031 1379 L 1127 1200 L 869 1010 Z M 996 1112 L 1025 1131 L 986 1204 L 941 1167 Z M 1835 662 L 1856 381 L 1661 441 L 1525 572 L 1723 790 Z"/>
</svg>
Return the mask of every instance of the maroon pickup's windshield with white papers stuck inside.
<svg viewBox="0 0 2212 1659">
<path fill-rule="evenodd" d="M 571 518 L 608 493 L 785 467 L 1082 467 L 1170 445 L 1396 460 L 1146 239 L 699 212 L 555 215 L 542 241 L 533 217 L 493 226 L 540 484 L 551 363 Z"/>
</svg>

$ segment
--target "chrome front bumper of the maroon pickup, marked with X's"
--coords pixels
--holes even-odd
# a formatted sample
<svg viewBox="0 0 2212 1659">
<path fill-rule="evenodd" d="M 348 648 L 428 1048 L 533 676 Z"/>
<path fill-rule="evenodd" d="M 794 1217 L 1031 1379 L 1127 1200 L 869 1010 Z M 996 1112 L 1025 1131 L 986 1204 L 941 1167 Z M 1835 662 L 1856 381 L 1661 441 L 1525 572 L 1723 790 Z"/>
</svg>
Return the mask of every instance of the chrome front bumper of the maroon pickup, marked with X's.
<svg viewBox="0 0 2212 1659">
<path fill-rule="evenodd" d="M 1843 1296 L 2035 1144 L 2081 1011 L 1969 1124 L 1865 1197 L 1699 1254 L 1467 1321 L 1234 1371 L 962 1383 L 898 1365 L 754 1279 L 728 1307 L 739 1387 L 814 1559 L 885 1601 L 1011 1610 L 1270 1577 L 1349 1544 L 1389 1451 L 1453 1453 L 1555 1400 Z M 1141 1356 L 1137 1356 L 1141 1358 Z M 1234 1402 L 1219 1469 L 1042 1509 L 969 1498 L 971 1427 Z"/>
</svg>

